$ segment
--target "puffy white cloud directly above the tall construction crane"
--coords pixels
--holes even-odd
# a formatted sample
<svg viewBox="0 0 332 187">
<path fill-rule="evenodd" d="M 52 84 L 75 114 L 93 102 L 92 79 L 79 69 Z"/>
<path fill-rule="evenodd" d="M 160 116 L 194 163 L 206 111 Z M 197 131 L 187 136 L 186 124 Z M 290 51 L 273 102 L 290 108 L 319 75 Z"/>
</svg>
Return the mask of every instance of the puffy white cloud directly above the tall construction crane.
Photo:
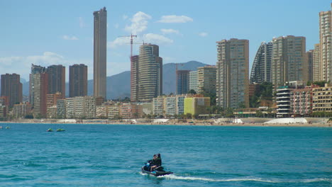
<svg viewBox="0 0 332 187">
<path fill-rule="evenodd" d="M 133 35 L 142 33 L 148 28 L 148 20 L 151 18 L 150 15 L 139 11 L 131 18 L 131 26 L 126 26 L 125 30 L 129 33 L 133 33 Z"/>
</svg>

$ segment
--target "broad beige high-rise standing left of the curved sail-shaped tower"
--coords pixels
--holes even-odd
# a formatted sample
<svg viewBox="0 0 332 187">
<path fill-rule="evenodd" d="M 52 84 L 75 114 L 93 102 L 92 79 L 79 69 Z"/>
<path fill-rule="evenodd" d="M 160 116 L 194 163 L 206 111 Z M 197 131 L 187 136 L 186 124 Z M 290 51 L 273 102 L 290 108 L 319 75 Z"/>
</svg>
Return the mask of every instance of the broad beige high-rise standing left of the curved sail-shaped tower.
<svg viewBox="0 0 332 187">
<path fill-rule="evenodd" d="M 217 43 L 217 104 L 222 108 L 249 107 L 249 40 Z"/>
</svg>

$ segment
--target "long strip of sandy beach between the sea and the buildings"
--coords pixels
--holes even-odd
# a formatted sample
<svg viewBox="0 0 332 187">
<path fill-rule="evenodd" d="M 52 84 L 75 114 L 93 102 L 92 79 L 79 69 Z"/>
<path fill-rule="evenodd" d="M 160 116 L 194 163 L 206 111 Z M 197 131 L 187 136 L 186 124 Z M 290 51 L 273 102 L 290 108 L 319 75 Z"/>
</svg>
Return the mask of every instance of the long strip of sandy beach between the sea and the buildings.
<svg viewBox="0 0 332 187">
<path fill-rule="evenodd" d="M 99 121 L 88 121 L 83 123 L 74 122 L 59 122 L 55 120 L 15 120 L 15 121 L 0 121 L 1 124 L 11 124 L 11 123 L 21 123 L 21 124 L 31 124 L 31 123 L 45 123 L 45 124 L 63 124 L 63 125 L 185 125 L 185 126 L 234 126 L 234 127 L 331 127 L 332 123 L 213 123 L 211 121 L 198 121 L 196 123 L 129 123 L 129 122 L 104 122 Z M 4 128 L 4 127 L 3 127 Z"/>
</svg>

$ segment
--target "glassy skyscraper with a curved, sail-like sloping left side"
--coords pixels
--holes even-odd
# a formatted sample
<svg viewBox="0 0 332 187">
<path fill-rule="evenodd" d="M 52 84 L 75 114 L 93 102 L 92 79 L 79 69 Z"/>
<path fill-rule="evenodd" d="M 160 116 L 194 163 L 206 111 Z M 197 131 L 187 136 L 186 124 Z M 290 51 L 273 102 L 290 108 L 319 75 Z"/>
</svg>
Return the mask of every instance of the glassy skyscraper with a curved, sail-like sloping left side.
<svg viewBox="0 0 332 187">
<path fill-rule="evenodd" d="M 272 42 L 262 42 L 255 56 L 250 74 L 250 83 L 271 81 Z"/>
</svg>

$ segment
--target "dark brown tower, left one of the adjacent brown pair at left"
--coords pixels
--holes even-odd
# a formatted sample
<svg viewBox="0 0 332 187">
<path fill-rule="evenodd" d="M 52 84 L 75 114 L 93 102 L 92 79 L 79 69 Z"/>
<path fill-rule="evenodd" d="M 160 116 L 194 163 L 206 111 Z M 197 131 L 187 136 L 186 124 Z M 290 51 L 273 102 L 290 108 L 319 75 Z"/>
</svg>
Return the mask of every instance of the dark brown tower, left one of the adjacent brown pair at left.
<svg viewBox="0 0 332 187">
<path fill-rule="evenodd" d="M 60 92 L 66 96 L 66 69 L 62 65 L 52 65 L 46 69 L 48 74 L 48 94 Z"/>
</svg>

